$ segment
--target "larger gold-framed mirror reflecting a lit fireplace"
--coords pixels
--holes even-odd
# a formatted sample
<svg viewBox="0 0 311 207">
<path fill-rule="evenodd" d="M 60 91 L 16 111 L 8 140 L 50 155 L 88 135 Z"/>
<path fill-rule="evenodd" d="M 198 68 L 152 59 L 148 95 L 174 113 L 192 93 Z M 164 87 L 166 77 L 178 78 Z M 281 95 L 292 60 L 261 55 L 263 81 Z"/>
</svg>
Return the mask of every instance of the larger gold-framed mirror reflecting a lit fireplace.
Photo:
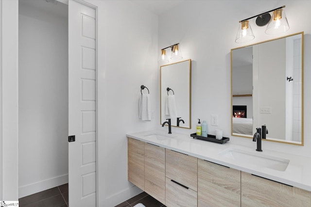
<svg viewBox="0 0 311 207">
<path fill-rule="evenodd" d="M 231 49 L 231 135 L 304 144 L 304 32 Z"/>
</svg>

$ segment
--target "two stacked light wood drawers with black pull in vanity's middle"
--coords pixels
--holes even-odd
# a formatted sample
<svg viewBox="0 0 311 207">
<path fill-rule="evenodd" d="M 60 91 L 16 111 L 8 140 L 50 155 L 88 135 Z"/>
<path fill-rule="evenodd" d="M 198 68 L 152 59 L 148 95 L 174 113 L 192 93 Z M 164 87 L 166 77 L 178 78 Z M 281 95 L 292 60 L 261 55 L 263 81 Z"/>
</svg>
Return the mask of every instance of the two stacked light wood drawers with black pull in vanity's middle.
<svg viewBox="0 0 311 207">
<path fill-rule="evenodd" d="M 167 207 L 196 207 L 198 159 L 165 149 Z"/>
</svg>

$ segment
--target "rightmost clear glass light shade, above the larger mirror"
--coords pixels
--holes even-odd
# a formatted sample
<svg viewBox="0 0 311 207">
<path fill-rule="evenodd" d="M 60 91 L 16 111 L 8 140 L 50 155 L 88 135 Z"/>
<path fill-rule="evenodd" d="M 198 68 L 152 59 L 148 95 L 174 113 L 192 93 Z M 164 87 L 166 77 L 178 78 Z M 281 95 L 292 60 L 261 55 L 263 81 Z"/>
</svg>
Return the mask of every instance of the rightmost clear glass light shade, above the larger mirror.
<svg viewBox="0 0 311 207">
<path fill-rule="evenodd" d="M 288 25 L 285 11 L 283 9 L 277 9 L 273 11 L 273 18 L 271 18 L 271 21 L 269 22 L 265 33 L 279 34 L 282 32 L 286 32 L 289 29 L 290 26 Z"/>
</svg>

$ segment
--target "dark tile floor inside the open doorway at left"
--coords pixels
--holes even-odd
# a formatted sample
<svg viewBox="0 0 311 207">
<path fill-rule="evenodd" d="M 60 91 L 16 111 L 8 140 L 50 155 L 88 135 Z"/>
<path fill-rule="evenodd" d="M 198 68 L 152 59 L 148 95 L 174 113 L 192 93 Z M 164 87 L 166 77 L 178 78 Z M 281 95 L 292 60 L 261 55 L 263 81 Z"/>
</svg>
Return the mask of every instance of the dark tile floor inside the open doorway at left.
<svg viewBox="0 0 311 207">
<path fill-rule="evenodd" d="M 68 207 L 68 183 L 19 198 L 19 207 Z"/>
</svg>

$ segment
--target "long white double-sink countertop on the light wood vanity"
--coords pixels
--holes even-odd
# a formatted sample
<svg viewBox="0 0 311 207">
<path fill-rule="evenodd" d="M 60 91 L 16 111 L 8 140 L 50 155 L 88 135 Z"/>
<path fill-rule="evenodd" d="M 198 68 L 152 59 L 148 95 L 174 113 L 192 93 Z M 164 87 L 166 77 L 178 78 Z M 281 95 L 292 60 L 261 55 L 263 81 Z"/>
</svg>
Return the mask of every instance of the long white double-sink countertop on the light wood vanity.
<svg viewBox="0 0 311 207">
<path fill-rule="evenodd" d="M 158 139 L 156 136 L 148 136 L 152 134 L 161 134 L 166 136 L 166 139 Z M 263 152 L 258 152 L 255 148 L 253 149 L 239 144 L 230 143 L 230 141 L 224 144 L 212 143 L 193 139 L 190 137 L 190 134 L 168 134 L 166 131 L 162 130 L 137 132 L 126 134 L 126 136 L 184 153 L 196 158 L 205 159 L 207 161 L 225 165 L 227 167 L 241 170 L 246 173 L 258 175 L 280 183 L 311 191 L 311 159 L 308 157 L 281 153 L 267 149 L 263 149 Z M 230 159 L 220 155 L 223 151 L 230 149 L 240 149 L 243 151 L 251 152 L 252 154 L 255 153 L 259 155 L 273 156 L 280 159 L 288 159 L 290 162 L 285 171 L 278 171 L 258 166 L 256 163 L 243 163 L 240 160 Z"/>
</svg>

